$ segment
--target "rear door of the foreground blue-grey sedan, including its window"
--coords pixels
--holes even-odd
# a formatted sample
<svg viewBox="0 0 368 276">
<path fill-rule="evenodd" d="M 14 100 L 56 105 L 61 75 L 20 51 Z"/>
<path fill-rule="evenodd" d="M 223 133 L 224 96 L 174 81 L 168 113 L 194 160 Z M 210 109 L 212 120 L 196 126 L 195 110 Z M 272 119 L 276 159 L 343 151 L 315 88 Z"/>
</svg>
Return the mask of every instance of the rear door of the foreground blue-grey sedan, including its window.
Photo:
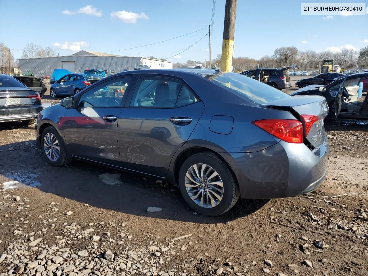
<svg viewBox="0 0 368 276">
<path fill-rule="evenodd" d="M 203 111 L 204 104 L 181 79 L 141 75 L 119 116 L 121 166 L 165 177 Z"/>
</svg>

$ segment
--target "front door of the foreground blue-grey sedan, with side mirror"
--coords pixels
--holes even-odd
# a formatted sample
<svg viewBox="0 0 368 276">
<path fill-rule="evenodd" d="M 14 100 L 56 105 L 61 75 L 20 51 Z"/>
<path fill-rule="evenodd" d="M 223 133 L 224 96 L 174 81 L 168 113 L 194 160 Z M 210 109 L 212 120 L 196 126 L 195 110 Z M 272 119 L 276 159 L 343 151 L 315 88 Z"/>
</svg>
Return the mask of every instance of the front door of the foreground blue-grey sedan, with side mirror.
<svg viewBox="0 0 368 276">
<path fill-rule="evenodd" d="M 93 85 L 75 97 L 59 121 L 69 152 L 73 156 L 119 165 L 116 132 L 132 76 L 119 76 Z"/>
</svg>

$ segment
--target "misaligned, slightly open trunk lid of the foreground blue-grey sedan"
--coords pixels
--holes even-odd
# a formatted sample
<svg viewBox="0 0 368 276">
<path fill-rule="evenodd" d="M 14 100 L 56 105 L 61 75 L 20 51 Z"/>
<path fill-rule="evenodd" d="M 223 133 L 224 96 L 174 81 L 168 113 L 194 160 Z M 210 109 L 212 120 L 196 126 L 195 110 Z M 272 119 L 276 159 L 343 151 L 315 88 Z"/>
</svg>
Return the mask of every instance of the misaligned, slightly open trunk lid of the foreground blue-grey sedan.
<svg viewBox="0 0 368 276">
<path fill-rule="evenodd" d="M 261 105 L 291 112 L 303 125 L 304 144 L 317 148 L 326 141 L 323 119 L 328 114 L 326 99 L 321 96 L 293 96 Z"/>
</svg>

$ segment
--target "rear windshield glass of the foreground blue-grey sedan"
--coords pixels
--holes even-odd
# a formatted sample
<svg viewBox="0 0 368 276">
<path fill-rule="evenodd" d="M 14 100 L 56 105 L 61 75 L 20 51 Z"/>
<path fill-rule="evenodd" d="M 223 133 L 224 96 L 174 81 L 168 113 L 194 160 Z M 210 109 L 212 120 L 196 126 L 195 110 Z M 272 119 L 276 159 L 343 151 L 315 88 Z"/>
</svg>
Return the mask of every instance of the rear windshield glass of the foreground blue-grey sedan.
<svg viewBox="0 0 368 276">
<path fill-rule="evenodd" d="M 216 75 L 215 77 L 212 76 L 213 75 L 210 75 L 208 78 L 214 84 L 223 87 L 227 91 L 244 96 L 248 100 L 251 100 L 257 104 L 268 103 L 274 100 L 291 97 L 287 93 L 241 74 L 222 73 Z"/>
</svg>

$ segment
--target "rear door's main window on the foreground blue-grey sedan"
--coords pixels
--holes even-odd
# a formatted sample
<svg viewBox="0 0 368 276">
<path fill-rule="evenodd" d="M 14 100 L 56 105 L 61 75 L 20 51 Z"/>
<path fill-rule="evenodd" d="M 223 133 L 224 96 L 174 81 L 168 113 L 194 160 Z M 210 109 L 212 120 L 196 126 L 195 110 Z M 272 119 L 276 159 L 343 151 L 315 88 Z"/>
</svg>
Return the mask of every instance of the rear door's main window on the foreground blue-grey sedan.
<svg viewBox="0 0 368 276">
<path fill-rule="evenodd" d="M 174 107 L 181 82 L 168 78 L 141 77 L 130 106 Z"/>
</svg>

